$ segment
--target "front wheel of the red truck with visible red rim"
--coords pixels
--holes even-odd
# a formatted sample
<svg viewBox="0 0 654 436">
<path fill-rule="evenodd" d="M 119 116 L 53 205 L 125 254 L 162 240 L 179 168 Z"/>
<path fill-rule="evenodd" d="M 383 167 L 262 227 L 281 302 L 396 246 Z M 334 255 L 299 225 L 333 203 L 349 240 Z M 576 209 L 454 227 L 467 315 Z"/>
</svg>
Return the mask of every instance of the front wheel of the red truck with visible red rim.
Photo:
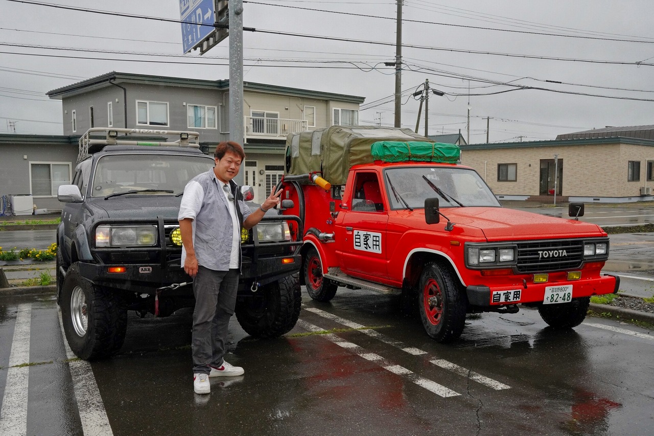
<svg viewBox="0 0 654 436">
<path fill-rule="evenodd" d="M 427 335 L 438 342 L 457 339 L 466 323 L 467 302 L 447 264 L 424 266 L 418 285 L 418 308 Z"/>
</svg>

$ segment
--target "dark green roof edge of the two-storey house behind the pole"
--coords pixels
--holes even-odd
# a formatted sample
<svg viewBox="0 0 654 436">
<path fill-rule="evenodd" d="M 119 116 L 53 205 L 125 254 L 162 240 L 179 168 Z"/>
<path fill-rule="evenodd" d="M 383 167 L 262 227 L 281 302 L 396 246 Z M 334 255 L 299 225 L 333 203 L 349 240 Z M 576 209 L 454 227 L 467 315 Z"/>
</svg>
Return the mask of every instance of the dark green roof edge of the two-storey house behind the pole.
<svg viewBox="0 0 654 436">
<path fill-rule="evenodd" d="M 56 88 L 46 95 L 55 100 L 61 100 L 65 97 L 75 96 L 90 90 L 112 86 L 112 83 L 139 83 L 139 84 L 157 84 L 164 86 L 182 86 L 188 88 L 213 88 L 215 90 L 229 90 L 230 81 L 228 79 L 218 81 L 207 81 L 203 79 L 185 79 L 183 77 L 165 77 L 145 74 L 132 73 L 106 73 L 85 81 L 70 84 Z M 348 103 L 363 103 L 365 97 L 350 96 L 347 94 L 336 94 L 333 92 L 322 92 L 305 90 L 300 88 L 288 88 L 286 86 L 277 86 L 256 82 L 243 82 L 244 91 L 258 91 L 269 94 L 283 94 L 284 96 L 298 96 L 305 98 L 318 98 L 321 100 L 346 101 Z"/>
</svg>

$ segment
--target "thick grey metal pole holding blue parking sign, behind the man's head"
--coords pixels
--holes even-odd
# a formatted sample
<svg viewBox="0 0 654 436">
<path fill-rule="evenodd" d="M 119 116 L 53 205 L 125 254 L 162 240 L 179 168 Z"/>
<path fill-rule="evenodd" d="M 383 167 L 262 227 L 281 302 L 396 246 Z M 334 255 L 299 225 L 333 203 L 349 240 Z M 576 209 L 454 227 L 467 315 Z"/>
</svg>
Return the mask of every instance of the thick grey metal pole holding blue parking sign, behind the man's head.
<svg viewBox="0 0 654 436">
<path fill-rule="evenodd" d="M 230 0 L 230 141 L 243 144 L 243 0 Z M 243 146 L 245 149 L 245 145 Z M 245 167 L 245 165 L 244 165 Z M 234 181 L 243 185 L 239 172 Z"/>
</svg>

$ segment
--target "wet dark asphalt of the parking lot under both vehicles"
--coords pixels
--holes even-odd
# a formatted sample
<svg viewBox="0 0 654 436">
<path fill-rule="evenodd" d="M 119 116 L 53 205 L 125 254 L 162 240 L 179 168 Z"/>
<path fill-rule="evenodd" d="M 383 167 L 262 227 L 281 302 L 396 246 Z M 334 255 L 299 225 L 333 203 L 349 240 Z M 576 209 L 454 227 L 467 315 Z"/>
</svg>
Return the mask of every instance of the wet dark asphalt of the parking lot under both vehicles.
<svg viewBox="0 0 654 436">
<path fill-rule="evenodd" d="M 444 345 L 398 297 L 339 288 L 303 301 L 282 338 L 250 338 L 232 319 L 227 360 L 245 375 L 196 395 L 188 310 L 131 312 L 120 354 L 89 365 L 66 361 L 53 297 L 0 297 L 0 434 L 652 434 L 654 336 L 639 327 L 588 318 L 557 333 L 521 310 L 469 319 Z M 38 365 L 10 367 L 16 332 Z"/>
</svg>

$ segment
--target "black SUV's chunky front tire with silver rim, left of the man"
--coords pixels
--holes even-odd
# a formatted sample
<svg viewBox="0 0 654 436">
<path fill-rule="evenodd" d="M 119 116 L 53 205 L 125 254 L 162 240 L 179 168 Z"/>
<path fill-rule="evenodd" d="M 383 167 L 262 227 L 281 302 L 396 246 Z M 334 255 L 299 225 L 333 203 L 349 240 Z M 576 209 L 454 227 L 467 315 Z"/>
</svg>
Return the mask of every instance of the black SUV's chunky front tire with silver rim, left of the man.
<svg viewBox="0 0 654 436">
<path fill-rule="evenodd" d="M 68 344 L 80 359 L 109 357 L 125 340 L 126 303 L 110 289 L 82 277 L 77 264 L 68 268 L 63 281 L 61 318 Z"/>
</svg>

